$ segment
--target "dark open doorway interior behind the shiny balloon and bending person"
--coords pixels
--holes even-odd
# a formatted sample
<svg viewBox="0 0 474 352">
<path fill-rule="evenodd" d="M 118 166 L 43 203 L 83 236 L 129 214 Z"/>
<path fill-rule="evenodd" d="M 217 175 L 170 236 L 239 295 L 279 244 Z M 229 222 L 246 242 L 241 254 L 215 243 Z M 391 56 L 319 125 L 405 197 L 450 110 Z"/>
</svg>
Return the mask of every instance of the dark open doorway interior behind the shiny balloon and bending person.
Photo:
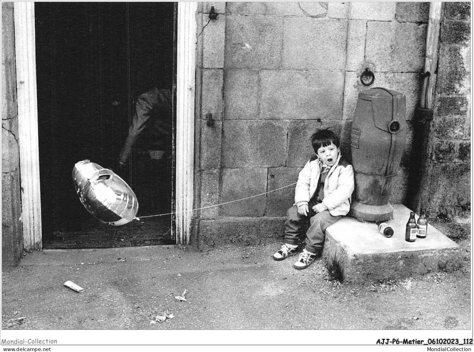
<svg viewBox="0 0 474 352">
<path fill-rule="evenodd" d="M 137 97 L 173 86 L 174 8 L 170 2 L 35 3 L 43 248 L 174 243 L 170 215 L 120 227 L 100 223 L 82 206 L 71 177 L 74 164 L 89 159 L 128 182 L 138 217 L 171 212 L 173 153 L 150 148 L 153 131 L 140 136 L 127 167 L 120 169 L 117 158 Z M 173 122 L 173 114 L 168 118 Z"/>
</svg>

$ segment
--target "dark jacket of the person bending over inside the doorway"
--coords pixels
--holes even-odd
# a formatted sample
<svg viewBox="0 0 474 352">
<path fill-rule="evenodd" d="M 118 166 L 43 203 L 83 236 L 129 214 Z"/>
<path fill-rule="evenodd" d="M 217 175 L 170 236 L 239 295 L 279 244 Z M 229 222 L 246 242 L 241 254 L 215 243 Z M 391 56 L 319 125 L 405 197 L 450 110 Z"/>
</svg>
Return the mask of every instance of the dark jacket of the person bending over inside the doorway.
<svg viewBox="0 0 474 352">
<path fill-rule="evenodd" d="M 157 87 L 140 95 L 135 106 L 132 125 L 128 130 L 118 163 L 123 166 L 128 163 L 133 145 L 144 131 L 143 138 L 151 158 L 157 158 L 158 152 L 171 151 L 173 95 L 171 89 Z M 162 156 L 163 157 L 163 156 Z"/>
</svg>

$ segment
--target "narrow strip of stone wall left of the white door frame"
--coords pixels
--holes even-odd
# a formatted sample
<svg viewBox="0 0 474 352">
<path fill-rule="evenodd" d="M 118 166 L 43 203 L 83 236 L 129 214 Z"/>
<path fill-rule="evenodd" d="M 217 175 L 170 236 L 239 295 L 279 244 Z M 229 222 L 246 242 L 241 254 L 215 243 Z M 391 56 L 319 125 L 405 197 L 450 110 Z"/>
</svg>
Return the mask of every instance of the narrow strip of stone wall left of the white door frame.
<svg viewBox="0 0 474 352">
<path fill-rule="evenodd" d="M 23 252 L 23 233 L 21 227 L 13 2 L 2 2 L 1 9 L 2 264 L 16 265 Z"/>
</svg>

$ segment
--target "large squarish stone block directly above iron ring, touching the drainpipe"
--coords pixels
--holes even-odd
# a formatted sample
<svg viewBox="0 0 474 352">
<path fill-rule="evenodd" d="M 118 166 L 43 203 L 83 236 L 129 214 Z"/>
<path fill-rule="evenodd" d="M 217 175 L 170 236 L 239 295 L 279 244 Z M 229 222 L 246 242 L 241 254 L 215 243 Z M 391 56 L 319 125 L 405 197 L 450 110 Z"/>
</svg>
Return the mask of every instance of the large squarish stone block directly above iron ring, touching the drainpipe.
<svg viewBox="0 0 474 352">
<path fill-rule="evenodd" d="M 368 22 L 365 59 L 379 72 L 420 72 L 424 68 L 427 25 Z"/>
</svg>

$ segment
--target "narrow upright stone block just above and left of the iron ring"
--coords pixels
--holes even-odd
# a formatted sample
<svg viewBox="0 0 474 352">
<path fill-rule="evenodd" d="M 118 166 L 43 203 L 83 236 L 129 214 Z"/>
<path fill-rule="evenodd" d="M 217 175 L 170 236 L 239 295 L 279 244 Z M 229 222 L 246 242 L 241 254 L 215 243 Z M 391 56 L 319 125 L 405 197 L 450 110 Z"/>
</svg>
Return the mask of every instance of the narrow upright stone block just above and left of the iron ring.
<svg viewBox="0 0 474 352">
<path fill-rule="evenodd" d="M 366 35 L 366 21 L 349 21 L 349 28 L 347 31 L 346 70 L 356 71 L 364 64 Z"/>
</svg>

